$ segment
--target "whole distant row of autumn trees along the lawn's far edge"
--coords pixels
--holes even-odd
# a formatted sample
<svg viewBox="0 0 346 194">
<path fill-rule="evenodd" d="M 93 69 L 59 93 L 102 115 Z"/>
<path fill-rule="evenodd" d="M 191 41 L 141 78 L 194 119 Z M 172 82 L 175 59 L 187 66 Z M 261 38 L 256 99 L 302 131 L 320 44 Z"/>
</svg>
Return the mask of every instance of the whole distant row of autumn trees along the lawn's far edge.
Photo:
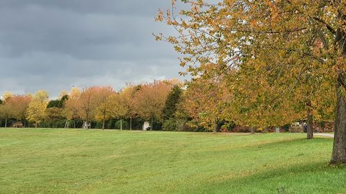
<svg viewBox="0 0 346 194">
<path fill-rule="evenodd" d="M 251 87 L 249 85 L 248 87 Z M 142 129 L 143 122 L 150 123 L 155 130 L 214 131 L 265 131 L 275 126 L 285 126 L 292 122 L 308 119 L 304 106 L 286 101 L 258 108 L 265 99 L 258 99 L 255 88 L 227 89 L 225 79 L 195 77 L 183 84 L 181 81 L 163 80 L 153 83 L 131 85 L 119 91 L 111 86 L 93 86 L 62 90 L 57 99 L 49 100 L 43 90 L 35 95 L 12 95 L 5 93 L 0 101 L 0 119 L 3 126 L 8 120 L 22 122 L 24 126 L 62 128 L 118 128 Z M 250 101 L 239 96 L 253 95 Z M 273 95 L 274 91 L 262 91 Z M 263 94 L 265 96 L 265 94 Z M 329 101 L 333 101 L 330 96 Z M 277 102 L 276 102 L 277 103 Z M 257 104 L 257 105 L 256 105 Z M 284 105 L 284 106 L 283 106 Z M 295 108 L 292 108 L 294 106 Z M 314 122 L 329 122 L 333 116 L 331 103 L 313 109 Z M 264 119 L 257 122 L 257 118 Z M 31 125 L 28 125 L 31 124 Z M 155 124 L 155 126 L 154 126 Z M 135 127 L 133 127 L 135 126 Z"/>
</svg>

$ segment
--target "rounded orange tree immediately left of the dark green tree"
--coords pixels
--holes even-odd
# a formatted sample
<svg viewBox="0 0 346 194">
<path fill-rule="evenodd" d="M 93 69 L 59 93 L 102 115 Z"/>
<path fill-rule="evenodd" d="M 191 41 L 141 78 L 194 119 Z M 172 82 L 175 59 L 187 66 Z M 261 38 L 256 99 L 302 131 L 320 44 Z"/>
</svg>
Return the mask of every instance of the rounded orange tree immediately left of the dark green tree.
<svg viewBox="0 0 346 194">
<path fill-rule="evenodd" d="M 164 81 L 154 81 L 151 84 L 143 84 L 134 96 L 134 108 L 143 119 L 151 121 L 151 130 L 154 120 L 162 121 L 163 108 L 172 84 Z"/>
</svg>

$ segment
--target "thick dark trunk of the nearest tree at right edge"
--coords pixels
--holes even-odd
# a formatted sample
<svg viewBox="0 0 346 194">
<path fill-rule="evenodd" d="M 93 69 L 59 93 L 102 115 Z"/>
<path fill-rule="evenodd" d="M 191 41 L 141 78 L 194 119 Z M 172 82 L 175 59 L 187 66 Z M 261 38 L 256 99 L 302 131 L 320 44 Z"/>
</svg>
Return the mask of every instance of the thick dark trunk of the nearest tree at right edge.
<svg viewBox="0 0 346 194">
<path fill-rule="evenodd" d="M 344 16 L 341 16 L 344 17 Z M 343 30 L 338 29 L 335 37 L 335 45 L 346 55 L 346 35 Z M 341 61 L 341 63 L 343 63 Z M 345 64 L 341 64 L 345 65 Z M 334 126 L 334 145 L 331 155 L 331 164 L 346 163 L 346 97 L 343 96 L 342 89 L 346 90 L 346 72 L 339 70 L 338 81 L 336 84 L 336 114 Z"/>
</svg>

